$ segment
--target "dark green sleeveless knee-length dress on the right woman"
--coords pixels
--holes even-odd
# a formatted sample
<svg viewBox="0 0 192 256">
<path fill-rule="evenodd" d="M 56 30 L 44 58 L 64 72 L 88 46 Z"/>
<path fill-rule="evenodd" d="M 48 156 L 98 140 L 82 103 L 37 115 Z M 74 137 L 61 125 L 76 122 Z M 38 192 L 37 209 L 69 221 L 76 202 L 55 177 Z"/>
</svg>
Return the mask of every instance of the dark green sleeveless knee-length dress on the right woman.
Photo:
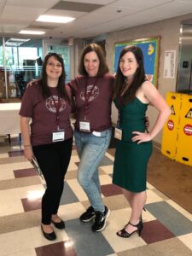
<svg viewBox="0 0 192 256">
<path fill-rule="evenodd" d="M 118 107 L 117 100 L 114 100 Z M 132 131 L 145 131 L 145 113 L 148 104 L 140 102 L 136 97 L 133 102 L 120 108 L 119 127 L 122 140 L 117 143 L 114 165 L 113 183 L 131 192 L 146 190 L 147 165 L 152 154 L 152 142 L 133 143 Z"/>
</svg>

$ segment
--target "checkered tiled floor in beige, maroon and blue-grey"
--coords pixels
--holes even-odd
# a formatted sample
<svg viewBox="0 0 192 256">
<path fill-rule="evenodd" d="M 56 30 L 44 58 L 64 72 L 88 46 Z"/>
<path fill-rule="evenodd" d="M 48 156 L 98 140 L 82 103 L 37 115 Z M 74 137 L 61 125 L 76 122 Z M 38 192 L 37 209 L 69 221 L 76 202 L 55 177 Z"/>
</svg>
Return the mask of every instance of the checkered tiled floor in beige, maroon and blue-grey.
<svg viewBox="0 0 192 256">
<path fill-rule="evenodd" d="M 127 222 L 131 209 L 119 187 L 111 183 L 113 156 L 106 154 L 99 168 L 102 198 L 110 208 L 107 228 L 93 233 L 79 215 L 89 206 L 77 182 L 79 158 L 75 148 L 61 198 L 60 216 L 66 230 L 55 230 L 56 241 L 40 230 L 44 180 L 23 156 L 17 140 L 12 146 L 0 137 L 0 255 L 9 256 L 186 256 L 192 255 L 192 216 L 148 183 L 147 212 L 142 236 L 124 239 L 116 231 Z"/>
</svg>

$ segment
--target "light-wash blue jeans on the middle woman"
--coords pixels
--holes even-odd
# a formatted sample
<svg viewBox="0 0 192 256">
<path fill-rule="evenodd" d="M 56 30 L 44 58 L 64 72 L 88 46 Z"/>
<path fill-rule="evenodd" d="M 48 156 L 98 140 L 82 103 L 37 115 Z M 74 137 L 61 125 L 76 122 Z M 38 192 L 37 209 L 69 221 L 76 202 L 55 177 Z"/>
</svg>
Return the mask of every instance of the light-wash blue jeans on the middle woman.
<svg viewBox="0 0 192 256">
<path fill-rule="evenodd" d="M 92 133 L 74 131 L 75 144 L 79 154 L 78 181 L 89 198 L 95 211 L 104 212 L 98 166 L 108 150 L 111 140 L 111 129 L 101 132 L 101 137 Z"/>
</svg>

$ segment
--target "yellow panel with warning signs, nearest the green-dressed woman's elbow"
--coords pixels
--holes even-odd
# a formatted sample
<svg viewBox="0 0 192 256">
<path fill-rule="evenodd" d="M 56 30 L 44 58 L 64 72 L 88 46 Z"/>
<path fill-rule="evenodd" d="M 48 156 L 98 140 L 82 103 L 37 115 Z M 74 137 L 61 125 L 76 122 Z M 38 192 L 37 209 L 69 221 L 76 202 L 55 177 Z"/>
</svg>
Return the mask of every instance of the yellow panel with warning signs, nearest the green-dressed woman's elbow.
<svg viewBox="0 0 192 256">
<path fill-rule="evenodd" d="M 171 159 L 175 159 L 177 152 L 178 127 L 181 113 L 183 94 L 168 92 L 166 102 L 172 109 L 172 113 L 163 128 L 161 153 Z"/>
</svg>

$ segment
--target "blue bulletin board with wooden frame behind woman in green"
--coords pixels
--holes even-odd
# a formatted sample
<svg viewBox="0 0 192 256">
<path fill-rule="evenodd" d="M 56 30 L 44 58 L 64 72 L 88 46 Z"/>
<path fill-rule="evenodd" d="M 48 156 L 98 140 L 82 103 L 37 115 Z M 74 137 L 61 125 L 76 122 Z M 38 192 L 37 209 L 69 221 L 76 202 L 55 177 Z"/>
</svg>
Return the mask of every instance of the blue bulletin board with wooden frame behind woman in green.
<svg viewBox="0 0 192 256">
<path fill-rule="evenodd" d="M 113 73 L 116 73 L 121 49 L 126 45 L 137 45 L 143 51 L 145 73 L 149 81 L 157 87 L 160 57 L 160 37 L 140 38 L 131 42 L 115 43 L 113 54 Z"/>
</svg>

